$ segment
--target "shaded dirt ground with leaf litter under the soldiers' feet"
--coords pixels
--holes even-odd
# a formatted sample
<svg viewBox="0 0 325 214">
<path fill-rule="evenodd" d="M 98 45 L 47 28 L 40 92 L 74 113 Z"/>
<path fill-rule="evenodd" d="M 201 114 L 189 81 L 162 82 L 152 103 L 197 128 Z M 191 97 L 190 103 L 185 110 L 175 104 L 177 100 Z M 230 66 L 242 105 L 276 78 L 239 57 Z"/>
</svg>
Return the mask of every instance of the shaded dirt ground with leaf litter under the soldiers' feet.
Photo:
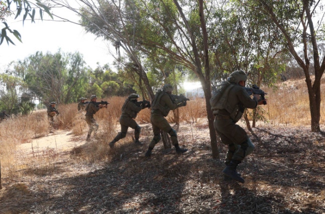
<svg viewBox="0 0 325 214">
<path fill-rule="evenodd" d="M 89 148 L 85 136 L 67 131 L 22 144 L 22 160 L 46 154 L 54 164 L 3 183 L 0 213 L 325 213 L 323 133 L 246 130 L 256 149 L 238 167 L 242 184 L 221 173 L 225 146 L 218 144 L 220 159 L 211 157 L 206 124 L 174 126 L 188 151 L 177 155 L 160 142 L 151 158 L 144 157 L 151 128 L 142 127 L 143 145 L 118 142 L 100 163 L 78 161 L 71 151 Z"/>
</svg>

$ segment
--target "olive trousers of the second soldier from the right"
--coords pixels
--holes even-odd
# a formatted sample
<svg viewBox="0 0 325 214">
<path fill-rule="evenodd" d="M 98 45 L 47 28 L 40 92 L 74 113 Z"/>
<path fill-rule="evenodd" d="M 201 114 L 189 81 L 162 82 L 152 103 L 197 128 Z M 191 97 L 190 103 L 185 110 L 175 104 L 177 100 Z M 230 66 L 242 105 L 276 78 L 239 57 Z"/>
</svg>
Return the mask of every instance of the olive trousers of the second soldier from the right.
<svg viewBox="0 0 325 214">
<path fill-rule="evenodd" d="M 149 144 L 150 148 L 154 148 L 155 145 L 160 141 L 160 130 L 167 132 L 170 135 L 170 139 L 173 145 L 178 144 L 175 130 L 171 128 L 171 126 L 163 116 L 151 114 L 150 121 L 152 125 L 152 131 L 154 133 L 154 138 Z"/>
</svg>

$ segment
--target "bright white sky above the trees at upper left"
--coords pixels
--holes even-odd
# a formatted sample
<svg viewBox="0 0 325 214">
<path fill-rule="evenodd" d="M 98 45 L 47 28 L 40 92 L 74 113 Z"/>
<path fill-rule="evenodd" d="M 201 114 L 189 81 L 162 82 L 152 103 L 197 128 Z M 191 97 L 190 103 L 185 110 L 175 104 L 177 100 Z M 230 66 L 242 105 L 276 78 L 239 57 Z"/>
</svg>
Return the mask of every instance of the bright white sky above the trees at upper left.
<svg viewBox="0 0 325 214">
<path fill-rule="evenodd" d="M 65 17 L 70 17 L 70 20 L 78 20 L 73 12 L 66 10 L 64 13 Z M 81 26 L 46 20 L 36 20 L 35 23 L 25 21 L 23 25 L 20 20 L 22 17 L 7 20 L 10 28 L 21 34 L 23 43 L 12 35 L 10 38 L 15 45 L 11 43 L 8 45 L 6 41 L 0 45 L 0 72 L 4 72 L 11 61 L 24 60 L 37 51 L 54 54 L 59 49 L 64 53 L 80 52 L 86 64 L 93 69 L 97 67 L 97 62 L 99 65 L 108 63 L 112 67 L 113 58 L 109 55 L 107 43 L 92 34 L 85 33 Z M 1 23 L 0 28 L 3 28 Z"/>
</svg>

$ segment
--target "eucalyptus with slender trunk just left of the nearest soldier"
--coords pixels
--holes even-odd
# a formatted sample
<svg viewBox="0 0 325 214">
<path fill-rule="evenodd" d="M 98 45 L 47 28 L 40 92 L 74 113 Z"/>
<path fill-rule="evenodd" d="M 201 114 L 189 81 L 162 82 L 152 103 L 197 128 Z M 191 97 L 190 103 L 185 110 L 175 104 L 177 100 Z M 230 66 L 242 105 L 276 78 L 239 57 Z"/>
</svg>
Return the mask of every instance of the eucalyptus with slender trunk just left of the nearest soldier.
<svg viewBox="0 0 325 214">
<path fill-rule="evenodd" d="M 139 0 L 143 30 L 138 35 L 142 51 L 167 56 L 195 73 L 201 82 L 206 100 L 206 112 L 212 157 L 218 158 L 216 134 L 210 106 L 211 80 L 207 27 L 215 1 Z M 152 51 L 155 50 L 155 51 Z"/>
</svg>

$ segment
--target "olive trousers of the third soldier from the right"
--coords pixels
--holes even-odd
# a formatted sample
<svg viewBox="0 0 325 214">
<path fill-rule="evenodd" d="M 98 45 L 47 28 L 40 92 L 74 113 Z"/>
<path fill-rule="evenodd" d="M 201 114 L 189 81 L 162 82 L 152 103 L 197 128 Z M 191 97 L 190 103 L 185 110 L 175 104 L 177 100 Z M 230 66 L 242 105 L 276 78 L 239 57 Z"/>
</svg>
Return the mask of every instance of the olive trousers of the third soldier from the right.
<svg viewBox="0 0 325 214">
<path fill-rule="evenodd" d="M 134 137 L 136 140 L 139 140 L 141 127 L 133 120 L 133 118 L 121 116 L 120 117 L 121 132 L 114 138 L 114 141 L 117 142 L 122 138 L 127 136 L 129 127 L 134 129 Z"/>
</svg>

